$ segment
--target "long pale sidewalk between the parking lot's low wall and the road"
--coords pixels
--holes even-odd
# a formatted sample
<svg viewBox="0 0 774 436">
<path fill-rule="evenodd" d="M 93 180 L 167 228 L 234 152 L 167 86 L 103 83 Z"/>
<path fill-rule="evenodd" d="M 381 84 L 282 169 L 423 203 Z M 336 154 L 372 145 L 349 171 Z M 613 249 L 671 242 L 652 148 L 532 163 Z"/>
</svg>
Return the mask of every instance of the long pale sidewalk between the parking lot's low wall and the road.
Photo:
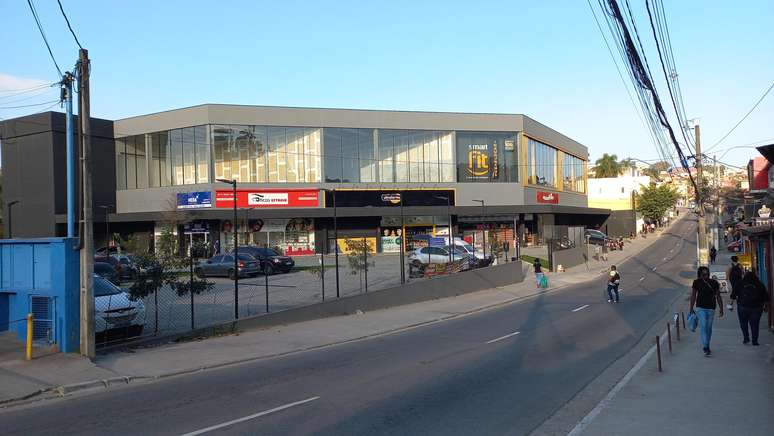
<svg viewBox="0 0 774 436">
<path fill-rule="evenodd" d="M 613 262 L 622 262 L 659 239 L 651 235 L 610 253 L 608 262 L 589 262 L 564 273 L 550 273 L 550 286 L 536 289 L 531 272 L 521 283 L 350 316 L 313 320 L 262 330 L 135 348 L 97 357 L 96 363 L 77 355 L 55 354 L 0 364 L 0 406 L 29 397 L 152 380 L 203 369 L 257 360 L 389 334 L 445 319 L 465 316 L 567 285 L 592 280 Z M 529 266 L 525 264 L 525 269 Z"/>
</svg>

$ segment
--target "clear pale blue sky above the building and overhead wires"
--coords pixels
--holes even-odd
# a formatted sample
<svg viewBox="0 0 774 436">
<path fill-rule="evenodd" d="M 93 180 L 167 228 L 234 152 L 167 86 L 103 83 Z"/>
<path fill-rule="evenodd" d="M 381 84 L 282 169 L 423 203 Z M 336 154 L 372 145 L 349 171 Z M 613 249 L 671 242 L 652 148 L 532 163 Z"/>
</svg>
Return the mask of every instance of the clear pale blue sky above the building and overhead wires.
<svg viewBox="0 0 774 436">
<path fill-rule="evenodd" d="M 95 117 L 203 103 L 522 113 L 586 145 L 592 161 L 658 157 L 583 0 L 61 1 L 92 59 Z M 34 4 L 72 70 L 78 47 L 56 0 Z M 630 4 L 668 101 L 644 0 Z M 774 143 L 774 91 L 712 146 L 774 81 L 774 2 L 664 5 L 703 147 L 744 165 L 758 155 L 751 146 Z M 0 118 L 61 110 L 42 104 L 55 88 L 16 93 L 59 80 L 25 0 L 0 0 L 0 41 Z"/>
</svg>

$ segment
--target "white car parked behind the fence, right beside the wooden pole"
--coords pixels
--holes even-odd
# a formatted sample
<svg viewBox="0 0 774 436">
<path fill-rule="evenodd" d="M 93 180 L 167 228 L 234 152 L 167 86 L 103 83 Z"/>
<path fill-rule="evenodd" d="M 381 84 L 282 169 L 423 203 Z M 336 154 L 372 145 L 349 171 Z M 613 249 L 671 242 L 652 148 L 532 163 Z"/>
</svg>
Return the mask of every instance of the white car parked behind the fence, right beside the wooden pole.
<svg viewBox="0 0 774 436">
<path fill-rule="evenodd" d="M 145 326 L 145 305 L 118 286 L 94 275 L 94 332 L 139 336 Z M 97 342 L 101 342 L 97 339 Z"/>
</svg>

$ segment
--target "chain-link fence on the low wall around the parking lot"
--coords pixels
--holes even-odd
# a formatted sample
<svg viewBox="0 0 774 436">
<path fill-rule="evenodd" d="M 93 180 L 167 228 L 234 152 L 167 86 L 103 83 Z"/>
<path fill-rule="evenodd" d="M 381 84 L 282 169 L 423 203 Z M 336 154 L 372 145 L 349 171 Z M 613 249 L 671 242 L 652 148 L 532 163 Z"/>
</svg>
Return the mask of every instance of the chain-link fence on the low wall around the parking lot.
<svg viewBox="0 0 774 436">
<path fill-rule="evenodd" d="M 178 260 L 169 271 L 145 268 L 140 272 L 138 267 L 136 274 L 118 286 L 95 279 L 97 344 L 185 333 L 235 318 L 374 292 L 491 263 L 480 253 L 477 256 L 457 249 L 450 255 L 449 251 L 449 247 L 429 246 L 414 250 L 402 256 L 401 268 L 400 254 L 375 254 L 367 244 L 352 243 L 338 256 L 296 257 L 287 269 L 268 267 L 272 259 L 257 260 L 257 268 L 239 274 L 238 280 L 233 280 L 232 270 L 206 268 L 216 257 Z M 232 260 L 229 257 L 223 263 Z M 246 271 L 249 262 L 245 265 Z M 271 273 L 263 274 L 264 270 Z"/>
</svg>

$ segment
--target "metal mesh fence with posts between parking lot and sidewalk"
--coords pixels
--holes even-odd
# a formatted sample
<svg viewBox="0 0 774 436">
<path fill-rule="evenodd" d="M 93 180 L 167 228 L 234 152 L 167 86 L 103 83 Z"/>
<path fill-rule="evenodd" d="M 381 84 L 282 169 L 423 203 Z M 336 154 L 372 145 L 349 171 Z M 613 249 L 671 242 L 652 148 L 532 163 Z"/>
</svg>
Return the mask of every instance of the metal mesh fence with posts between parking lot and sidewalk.
<svg viewBox="0 0 774 436">
<path fill-rule="evenodd" d="M 234 280 L 227 277 L 199 279 L 189 271 L 178 271 L 183 283 L 193 278 L 206 280 L 210 285 L 193 296 L 164 285 L 147 296 L 132 298 L 129 288 L 133 282 L 121 282 L 120 286 L 127 292 L 97 298 L 97 345 L 104 347 L 148 336 L 181 334 L 232 321 L 237 314 L 240 319 L 264 315 L 401 285 L 399 254 L 360 255 L 355 259 L 353 254 L 340 253 L 338 269 L 335 254 L 296 257 L 290 271 L 240 277 L 236 289 Z M 471 259 L 411 262 L 404 256 L 405 281 L 428 280 L 489 263 Z"/>
</svg>

